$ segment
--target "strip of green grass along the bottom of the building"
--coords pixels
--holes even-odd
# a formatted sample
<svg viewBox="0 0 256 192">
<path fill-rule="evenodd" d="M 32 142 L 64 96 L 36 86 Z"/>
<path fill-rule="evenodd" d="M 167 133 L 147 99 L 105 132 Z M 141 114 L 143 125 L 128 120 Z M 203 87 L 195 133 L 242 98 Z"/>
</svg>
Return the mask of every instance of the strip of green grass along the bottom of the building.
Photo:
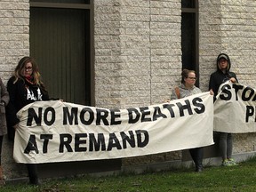
<svg viewBox="0 0 256 192">
<path fill-rule="evenodd" d="M 39 187 L 28 184 L 0 187 L 1 192 L 149 192 L 149 191 L 256 191 L 256 157 L 232 167 L 206 167 L 204 172 L 193 172 L 193 168 L 143 174 L 121 174 L 95 178 L 43 180 Z"/>
</svg>

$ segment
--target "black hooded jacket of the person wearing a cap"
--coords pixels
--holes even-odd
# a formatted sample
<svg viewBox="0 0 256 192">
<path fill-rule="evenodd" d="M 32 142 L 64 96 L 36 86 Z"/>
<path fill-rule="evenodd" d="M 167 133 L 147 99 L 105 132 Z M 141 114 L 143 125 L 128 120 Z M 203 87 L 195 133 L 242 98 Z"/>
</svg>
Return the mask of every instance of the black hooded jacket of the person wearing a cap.
<svg viewBox="0 0 256 192">
<path fill-rule="evenodd" d="M 228 59 L 228 68 L 226 70 L 226 73 L 223 73 L 218 66 L 218 62 L 220 60 L 221 55 L 225 55 Z M 231 77 L 234 77 L 236 79 L 236 82 L 238 82 L 236 74 L 229 71 L 229 69 L 231 68 L 231 61 L 227 54 L 220 53 L 220 55 L 217 57 L 216 66 L 217 70 L 214 73 L 212 73 L 209 82 L 209 90 L 212 89 L 212 91 L 214 92 L 214 101 L 216 100 L 216 95 L 218 94 L 220 84 L 223 84 L 224 82 L 228 81 Z"/>
</svg>

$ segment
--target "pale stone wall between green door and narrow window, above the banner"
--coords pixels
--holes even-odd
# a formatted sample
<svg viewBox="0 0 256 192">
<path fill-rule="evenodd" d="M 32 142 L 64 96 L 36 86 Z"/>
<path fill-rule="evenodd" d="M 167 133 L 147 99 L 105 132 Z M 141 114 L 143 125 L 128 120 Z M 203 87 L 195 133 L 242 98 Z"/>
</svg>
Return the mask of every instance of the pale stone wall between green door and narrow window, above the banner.
<svg viewBox="0 0 256 192">
<path fill-rule="evenodd" d="M 98 107 L 162 102 L 180 79 L 180 1 L 94 1 Z"/>
</svg>

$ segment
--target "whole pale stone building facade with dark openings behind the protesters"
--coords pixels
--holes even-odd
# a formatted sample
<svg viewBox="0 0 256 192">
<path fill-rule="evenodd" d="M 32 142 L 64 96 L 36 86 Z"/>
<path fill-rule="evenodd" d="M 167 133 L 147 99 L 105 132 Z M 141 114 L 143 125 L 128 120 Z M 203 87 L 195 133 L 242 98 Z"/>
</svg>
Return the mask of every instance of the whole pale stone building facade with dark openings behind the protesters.
<svg viewBox="0 0 256 192">
<path fill-rule="evenodd" d="M 51 13 L 52 10 L 55 12 L 55 9 L 60 11 L 60 18 L 67 16 L 67 20 L 62 21 L 63 25 L 70 22 L 69 15 L 73 15 L 73 11 L 77 11 L 78 16 L 71 18 L 72 20 L 84 18 L 77 22 L 76 26 L 66 26 L 75 28 L 75 31 L 83 30 L 81 36 L 86 35 L 82 44 L 79 39 L 72 38 L 73 42 L 76 41 L 72 49 L 73 46 L 74 49 L 78 46 L 78 51 L 84 50 L 82 56 L 75 54 L 78 51 L 72 53 L 70 46 L 61 44 L 63 39 L 60 39 L 61 43 L 58 44 L 61 49 L 70 49 L 68 52 L 71 52 L 70 55 L 74 54 L 74 57 L 65 54 L 63 60 L 45 60 L 51 56 L 44 54 L 42 46 L 44 50 L 52 48 L 51 52 L 60 56 L 59 52 L 55 52 L 59 50 L 59 46 L 54 47 L 54 44 L 51 44 L 52 40 L 46 43 L 45 39 L 52 34 L 54 28 L 58 28 L 56 23 L 60 23 L 60 20 L 53 24 L 49 23 L 52 18 L 57 18 Z M 62 12 L 66 9 L 67 12 Z M 49 20 L 41 20 L 46 16 L 49 16 Z M 190 16 L 193 22 L 189 21 Z M 71 102 L 77 100 L 84 105 L 100 108 L 131 108 L 161 103 L 170 97 L 172 88 L 180 84 L 180 72 L 185 67 L 196 70 L 199 76 L 197 85 L 206 92 L 210 74 L 216 69 L 216 58 L 220 52 L 228 53 L 230 56 L 231 70 L 236 73 L 239 82 L 255 88 L 254 0 L 3 0 L 0 2 L 0 18 L 0 76 L 4 82 L 12 76 L 13 69 L 25 55 L 35 57 L 39 68 L 43 69 L 42 74 L 49 79 L 52 78 L 50 71 L 54 69 L 53 66 L 57 66 L 55 74 L 60 68 L 69 68 L 71 71 L 79 68 L 76 74 L 81 71 L 82 74 L 80 77 L 77 75 L 78 79 L 74 75 L 72 77 L 72 74 L 69 76 L 68 82 L 72 82 L 74 78 L 75 82 L 62 83 L 61 78 L 68 76 L 60 76 L 60 82 L 56 82 L 57 85 L 72 87 L 83 78 L 80 85 L 85 87 L 85 93 L 82 99 L 66 95 L 66 100 Z M 51 27 L 49 32 L 42 31 L 48 28 L 47 25 L 43 29 L 40 28 L 45 23 Z M 191 28 L 193 30 L 190 30 Z M 64 30 L 66 29 L 56 29 L 56 36 L 60 36 Z M 77 36 L 72 34 L 73 30 L 67 31 L 71 31 L 70 36 Z M 46 37 L 40 37 L 46 33 Z M 42 39 L 43 42 L 40 43 L 39 40 Z M 68 37 L 64 36 L 64 39 Z M 189 44 L 193 46 L 188 49 L 188 53 L 194 53 L 192 56 L 188 54 L 188 57 L 184 57 Z M 80 63 L 76 58 L 85 60 L 83 66 L 76 65 L 75 62 Z M 62 66 L 67 60 L 71 60 L 70 66 Z M 50 63 L 50 66 L 45 63 Z M 61 93 L 55 92 L 56 88 L 53 85 L 50 87 L 51 90 L 56 94 Z M 79 91 L 77 92 L 79 94 Z M 256 145 L 255 136 L 255 133 L 234 135 L 234 154 L 253 153 Z M 131 165 L 182 161 L 182 158 L 180 151 L 125 158 L 118 160 L 119 165 L 115 170 L 122 170 L 125 166 Z M 12 141 L 7 137 L 4 138 L 2 164 L 7 179 L 27 175 L 23 164 L 16 164 L 13 161 Z"/>
</svg>

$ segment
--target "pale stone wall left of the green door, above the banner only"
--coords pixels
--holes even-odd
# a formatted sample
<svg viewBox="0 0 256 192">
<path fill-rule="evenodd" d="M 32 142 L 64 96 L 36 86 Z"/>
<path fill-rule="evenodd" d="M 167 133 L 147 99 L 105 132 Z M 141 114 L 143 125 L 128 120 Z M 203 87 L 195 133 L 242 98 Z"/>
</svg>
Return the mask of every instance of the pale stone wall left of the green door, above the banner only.
<svg viewBox="0 0 256 192">
<path fill-rule="evenodd" d="M 29 54 L 29 1 L 0 2 L 0 74 L 4 82 L 20 57 Z"/>
</svg>

